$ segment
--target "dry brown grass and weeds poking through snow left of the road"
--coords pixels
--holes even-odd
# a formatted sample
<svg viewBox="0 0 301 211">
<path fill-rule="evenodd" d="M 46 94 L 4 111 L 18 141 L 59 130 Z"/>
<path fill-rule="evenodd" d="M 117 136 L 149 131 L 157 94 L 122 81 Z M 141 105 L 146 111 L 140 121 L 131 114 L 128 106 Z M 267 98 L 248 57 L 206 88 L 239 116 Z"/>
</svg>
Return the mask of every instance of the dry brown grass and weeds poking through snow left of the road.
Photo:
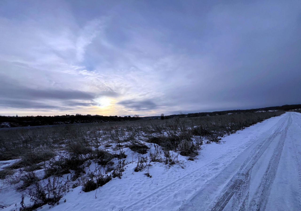
<svg viewBox="0 0 301 211">
<path fill-rule="evenodd" d="M 0 130 L 0 160 L 21 158 L 1 170 L 0 179 L 7 179 L 17 189 L 28 192 L 35 203 L 33 207 L 24 206 L 24 210 L 30 210 L 48 202 L 58 202 L 67 188 L 58 178 L 65 174 L 69 174 L 68 181 L 72 182 L 73 187 L 83 185 L 84 191 L 95 190 L 112 178 L 121 178 L 126 165 L 124 147 L 146 154 L 144 157 L 139 155 L 134 170 L 146 170 L 145 175 L 151 177 L 150 162 L 173 165 L 178 162 L 178 153 L 193 160 L 200 152 L 203 141 L 219 142 L 225 135 L 282 113 L 240 113 Z M 155 147 L 149 149 L 145 142 L 154 143 Z M 56 155 L 61 156 L 54 158 Z M 85 173 L 92 161 L 105 172 L 104 175 L 99 172 Z M 40 185 L 41 180 L 34 173 L 41 168 L 45 169 L 44 179 L 48 179 L 48 185 L 54 185 L 53 191 L 58 191 L 55 200 L 44 197 L 48 190 Z M 21 173 L 20 176 L 13 175 L 16 171 Z"/>
</svg>

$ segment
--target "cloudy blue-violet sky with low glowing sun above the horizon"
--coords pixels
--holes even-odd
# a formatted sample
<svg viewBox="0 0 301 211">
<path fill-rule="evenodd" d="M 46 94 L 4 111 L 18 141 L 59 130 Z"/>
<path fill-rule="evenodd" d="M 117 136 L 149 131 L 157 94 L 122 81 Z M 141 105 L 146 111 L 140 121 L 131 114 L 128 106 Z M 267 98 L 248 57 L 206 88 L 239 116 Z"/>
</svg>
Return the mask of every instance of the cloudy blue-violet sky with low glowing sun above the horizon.
<svg viewBox="0 0 301 211">
<path fill-rule="evenodd" d="M 301 1 L 0 0 L 0 115 L 301 103 Z"/>
</svg>

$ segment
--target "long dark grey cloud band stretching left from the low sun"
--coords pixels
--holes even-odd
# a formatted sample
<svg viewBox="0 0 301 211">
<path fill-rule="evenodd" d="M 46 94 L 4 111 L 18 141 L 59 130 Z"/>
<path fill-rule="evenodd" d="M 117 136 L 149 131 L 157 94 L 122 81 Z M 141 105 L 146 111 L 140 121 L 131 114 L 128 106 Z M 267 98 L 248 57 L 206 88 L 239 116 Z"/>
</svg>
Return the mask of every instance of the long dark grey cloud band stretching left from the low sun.
<svg viewBox="0 0 301 211">
<path fill-rule="evenodd" d="M 112 90 L 94 94 L 78 90 L 32 89 L 18 85 L 15 80 L 4 80 L 4 77 L 0 79 L 0 90 L 0 107 L 33 109 L 33 111 L 35 109 L 69 110 L 95 106 L 97 103 L 93 99 L 96 96 L 117 95 Z"/>
</svg>

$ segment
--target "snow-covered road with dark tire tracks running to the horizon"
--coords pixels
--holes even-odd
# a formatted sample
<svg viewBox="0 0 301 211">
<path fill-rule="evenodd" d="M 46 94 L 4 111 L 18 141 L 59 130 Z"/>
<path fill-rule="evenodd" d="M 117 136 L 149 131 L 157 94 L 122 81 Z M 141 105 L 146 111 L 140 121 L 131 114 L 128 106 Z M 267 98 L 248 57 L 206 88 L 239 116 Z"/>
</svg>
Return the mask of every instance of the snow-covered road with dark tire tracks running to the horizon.
<svg viewBox="0 0 301 211">
<path fill-rule="evenodd" d="M 285 113 L 245 146 L 180 210 L 301 210 L 301 114 Z"/>
</svg>

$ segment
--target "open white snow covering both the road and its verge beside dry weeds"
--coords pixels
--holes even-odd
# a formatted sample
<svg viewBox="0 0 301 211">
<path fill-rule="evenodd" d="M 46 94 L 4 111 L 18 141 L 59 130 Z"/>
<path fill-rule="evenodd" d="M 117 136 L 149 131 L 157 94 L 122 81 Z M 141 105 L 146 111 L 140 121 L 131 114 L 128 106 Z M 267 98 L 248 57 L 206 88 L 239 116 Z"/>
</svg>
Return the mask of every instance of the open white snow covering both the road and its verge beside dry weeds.
<svg viewBox="0 0 301 211">
<path fill-rule="evenodd" d="M 122 179 L 90 192 L 70 188 L 59 204 L 41 210 L 301 210 L 300 141 L 301 114 L 287 112 L 203 144 L 194 161 L 170 151 L 176 164 L 151 162 L 135 172 L 138 153 L 125 148 Z M 0 168 L 14 162 L 1 161 Z M 0 182 L 2 210 L 19 210 L 21 194 Z"/>
</svg>

